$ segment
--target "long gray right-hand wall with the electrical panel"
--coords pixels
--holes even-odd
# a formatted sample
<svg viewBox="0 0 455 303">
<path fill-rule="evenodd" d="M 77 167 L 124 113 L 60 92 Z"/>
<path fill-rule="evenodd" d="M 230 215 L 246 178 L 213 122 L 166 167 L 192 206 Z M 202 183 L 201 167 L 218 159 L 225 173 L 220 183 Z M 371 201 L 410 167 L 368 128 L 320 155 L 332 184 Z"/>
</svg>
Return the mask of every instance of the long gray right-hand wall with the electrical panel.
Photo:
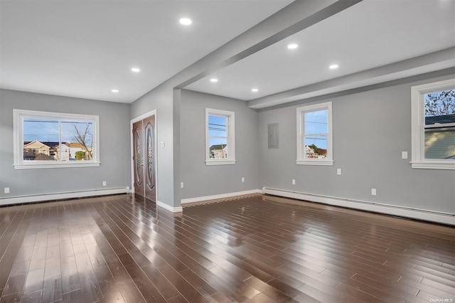
<svg viewBox="0 0 455 303">
<path fill-rule="evenodd" d="M 333 166 L 296 165 L 296 107 L 307 103 L 259 112 L 259 186 L 455 213 L 454 171 L 410 164 L 410 87 L 446 78 L 319 100 L 333 102 Z M 267 149 L 267 124 L 276 122 L 279 149 Z"/>
</svg>

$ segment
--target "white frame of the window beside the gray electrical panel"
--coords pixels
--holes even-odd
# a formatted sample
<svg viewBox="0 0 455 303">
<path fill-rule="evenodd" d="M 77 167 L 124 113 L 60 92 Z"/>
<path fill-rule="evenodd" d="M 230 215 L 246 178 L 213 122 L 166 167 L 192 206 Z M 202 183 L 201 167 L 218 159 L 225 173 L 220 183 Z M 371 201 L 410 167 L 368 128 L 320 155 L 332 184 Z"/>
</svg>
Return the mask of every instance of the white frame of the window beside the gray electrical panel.
<svg viewBox="0 0 455 303">
<path fill-rule="evenodd" d="M 305 113 L 327 110 L 327 158 L 306 159 L 304 158 L 304 136 L 305 136 Z M 332 102 L 324 102 L 315 105 L 297 107 L 297 159 L 299 165 L 323 165 L 333 166 L 333 131 L 332 131 Z"/>
</svg>

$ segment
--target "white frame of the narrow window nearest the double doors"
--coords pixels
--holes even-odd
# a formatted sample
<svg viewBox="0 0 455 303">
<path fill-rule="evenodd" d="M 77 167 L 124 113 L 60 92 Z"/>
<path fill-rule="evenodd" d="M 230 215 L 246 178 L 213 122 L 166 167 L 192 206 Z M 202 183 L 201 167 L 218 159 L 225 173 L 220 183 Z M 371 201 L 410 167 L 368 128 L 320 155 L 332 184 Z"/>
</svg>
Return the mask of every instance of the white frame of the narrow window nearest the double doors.
<svg viewBox="0 0 455 303">
<path fill-rule="evenodd" d="M 208 116 L 223 116 L 227 119 L 228 133 L 228 158 L 227 159 L 210 159 L 210 142 L 208 138 Z M 235 164 L 235 112 L 227 110 L 205 109 L 205 165 L 232 165 Z"/>
</svg>

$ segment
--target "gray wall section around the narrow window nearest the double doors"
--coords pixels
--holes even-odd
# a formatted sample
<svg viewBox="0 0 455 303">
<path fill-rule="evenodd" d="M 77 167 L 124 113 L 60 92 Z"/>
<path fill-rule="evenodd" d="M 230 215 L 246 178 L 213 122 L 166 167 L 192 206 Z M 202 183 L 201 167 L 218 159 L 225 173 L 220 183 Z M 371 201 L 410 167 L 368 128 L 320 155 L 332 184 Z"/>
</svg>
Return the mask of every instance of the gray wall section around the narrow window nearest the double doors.
<svg viewBox="0 0 455 303">
<path fill-rule="evenodd" d="M 205 165 L 205 108 L 235 112 L 235 164 Z M 257 112 L 245 101 L 181 90 L 180 122 L 181 198 L 258 188 Z"/>
</svg>

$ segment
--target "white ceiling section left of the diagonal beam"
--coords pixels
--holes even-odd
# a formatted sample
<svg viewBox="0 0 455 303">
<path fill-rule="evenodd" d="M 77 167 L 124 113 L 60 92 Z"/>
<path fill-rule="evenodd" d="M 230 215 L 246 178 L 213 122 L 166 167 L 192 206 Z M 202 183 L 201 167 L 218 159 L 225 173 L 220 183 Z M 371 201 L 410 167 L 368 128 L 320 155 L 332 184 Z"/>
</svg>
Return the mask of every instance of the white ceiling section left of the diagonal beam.
<svg viewBox="0 0 455 303">
<path fill-rule="evenodd" d="M 0 87 L 133 102 L 289 3 L 1 0 Z"/>
</svg>

